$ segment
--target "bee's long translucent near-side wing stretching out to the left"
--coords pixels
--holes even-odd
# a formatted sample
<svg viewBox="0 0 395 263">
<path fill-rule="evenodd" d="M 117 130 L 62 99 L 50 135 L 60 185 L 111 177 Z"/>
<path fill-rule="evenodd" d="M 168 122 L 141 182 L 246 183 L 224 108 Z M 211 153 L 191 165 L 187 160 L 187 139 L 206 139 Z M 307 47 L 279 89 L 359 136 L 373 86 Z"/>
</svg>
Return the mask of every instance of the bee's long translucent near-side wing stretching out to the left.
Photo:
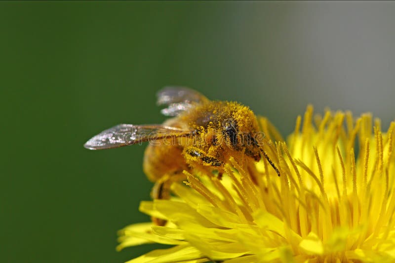
<svg viewBox="0 0 395 263">
<path fill-rule="evenodd" d="M 171 137 L 191 136 L 193 131 L 163 125 L 119 124 L 100 132 L 83 146 L 89 150 L 102 150 Z"/>
</svg>

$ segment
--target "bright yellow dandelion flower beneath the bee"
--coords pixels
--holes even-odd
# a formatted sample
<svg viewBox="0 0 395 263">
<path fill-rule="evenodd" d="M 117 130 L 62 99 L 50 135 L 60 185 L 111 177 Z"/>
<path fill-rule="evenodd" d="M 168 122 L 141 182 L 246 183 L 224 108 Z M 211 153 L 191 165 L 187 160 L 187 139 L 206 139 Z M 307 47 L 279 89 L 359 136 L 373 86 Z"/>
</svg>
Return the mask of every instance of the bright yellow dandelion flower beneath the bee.
<svg viewBox="0 0 395 263">
<path fill-rule="evenodd" d="M 251 174 L 234 158 L 221 180 L 187 173 L 171 199 L 141 202 L 167 225 L 120 230 L 118 250 L 174 245 L 130 263 L 395 262 L 395 122 L 382 132 L 370 114 L 314 117 L 311 106 L 301 120 L 287 143 L 275 134 L 265 146 L 280 177 L 266 160 Z"/>
</svg>

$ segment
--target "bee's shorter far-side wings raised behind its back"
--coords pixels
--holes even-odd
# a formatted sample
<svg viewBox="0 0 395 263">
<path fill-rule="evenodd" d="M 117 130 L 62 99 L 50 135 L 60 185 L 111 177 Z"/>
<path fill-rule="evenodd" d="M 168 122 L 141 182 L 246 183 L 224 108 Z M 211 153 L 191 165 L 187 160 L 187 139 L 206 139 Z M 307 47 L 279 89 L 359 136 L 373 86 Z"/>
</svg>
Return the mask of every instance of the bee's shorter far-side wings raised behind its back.
<svg viewBox="0 0 395 263">
<path fill-rule="evenodd" d="M 160 111 L 165 116 L 177 116 L 191 108 L 194 103 L 208 101 L 197 91 L 186 87 L 164 87 L 158 91 L 157 98 L 158 105 L 167 105 L 167 108 Z"/>
</svg>

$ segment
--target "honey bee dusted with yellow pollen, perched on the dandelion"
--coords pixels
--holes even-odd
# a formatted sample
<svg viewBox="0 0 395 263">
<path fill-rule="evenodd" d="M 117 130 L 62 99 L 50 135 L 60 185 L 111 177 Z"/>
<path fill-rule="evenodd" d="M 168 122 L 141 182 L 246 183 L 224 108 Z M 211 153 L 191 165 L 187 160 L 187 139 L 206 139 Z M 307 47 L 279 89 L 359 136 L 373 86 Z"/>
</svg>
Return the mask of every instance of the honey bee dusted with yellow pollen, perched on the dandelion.
<svg viewBox="0 0 395 263">
<path fill-rule="evenodd" d="M 263 155 L 276 165 L 263 149 L 263 135 L 255 114 L 237 102 L 209 100 L 195 90 L 166 87 L 157 94 L 161 110 L 171 116 L 163 124 L 119 124 L 88 140 L 90 150 L 117 148 L 149 141 L 143 170 L 155 182 L 153 198 L 169 198 L 170 185 L 185 179 L 184 170 L 221 176 L 231 157 L 255 167 Z"/>
</svg>

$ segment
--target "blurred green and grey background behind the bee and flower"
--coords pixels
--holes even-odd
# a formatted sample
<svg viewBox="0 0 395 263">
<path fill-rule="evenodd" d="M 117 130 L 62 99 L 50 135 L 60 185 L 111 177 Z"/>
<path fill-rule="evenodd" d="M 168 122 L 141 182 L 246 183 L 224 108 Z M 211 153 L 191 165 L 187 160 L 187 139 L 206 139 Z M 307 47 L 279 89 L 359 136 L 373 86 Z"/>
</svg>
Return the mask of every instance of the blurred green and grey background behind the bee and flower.
<svg viewBox="0 0 395 263">
<path fill-rule="evenodd" d="M 286 135 L 308 103 L 395 117 L 394 2 L 1 2 L 1 262 L 123 262 L 118 229 L 152 184 L 144 147 L 88 151 L 160 123 L 157 90 L 237 100 Z"/>
</svg>

